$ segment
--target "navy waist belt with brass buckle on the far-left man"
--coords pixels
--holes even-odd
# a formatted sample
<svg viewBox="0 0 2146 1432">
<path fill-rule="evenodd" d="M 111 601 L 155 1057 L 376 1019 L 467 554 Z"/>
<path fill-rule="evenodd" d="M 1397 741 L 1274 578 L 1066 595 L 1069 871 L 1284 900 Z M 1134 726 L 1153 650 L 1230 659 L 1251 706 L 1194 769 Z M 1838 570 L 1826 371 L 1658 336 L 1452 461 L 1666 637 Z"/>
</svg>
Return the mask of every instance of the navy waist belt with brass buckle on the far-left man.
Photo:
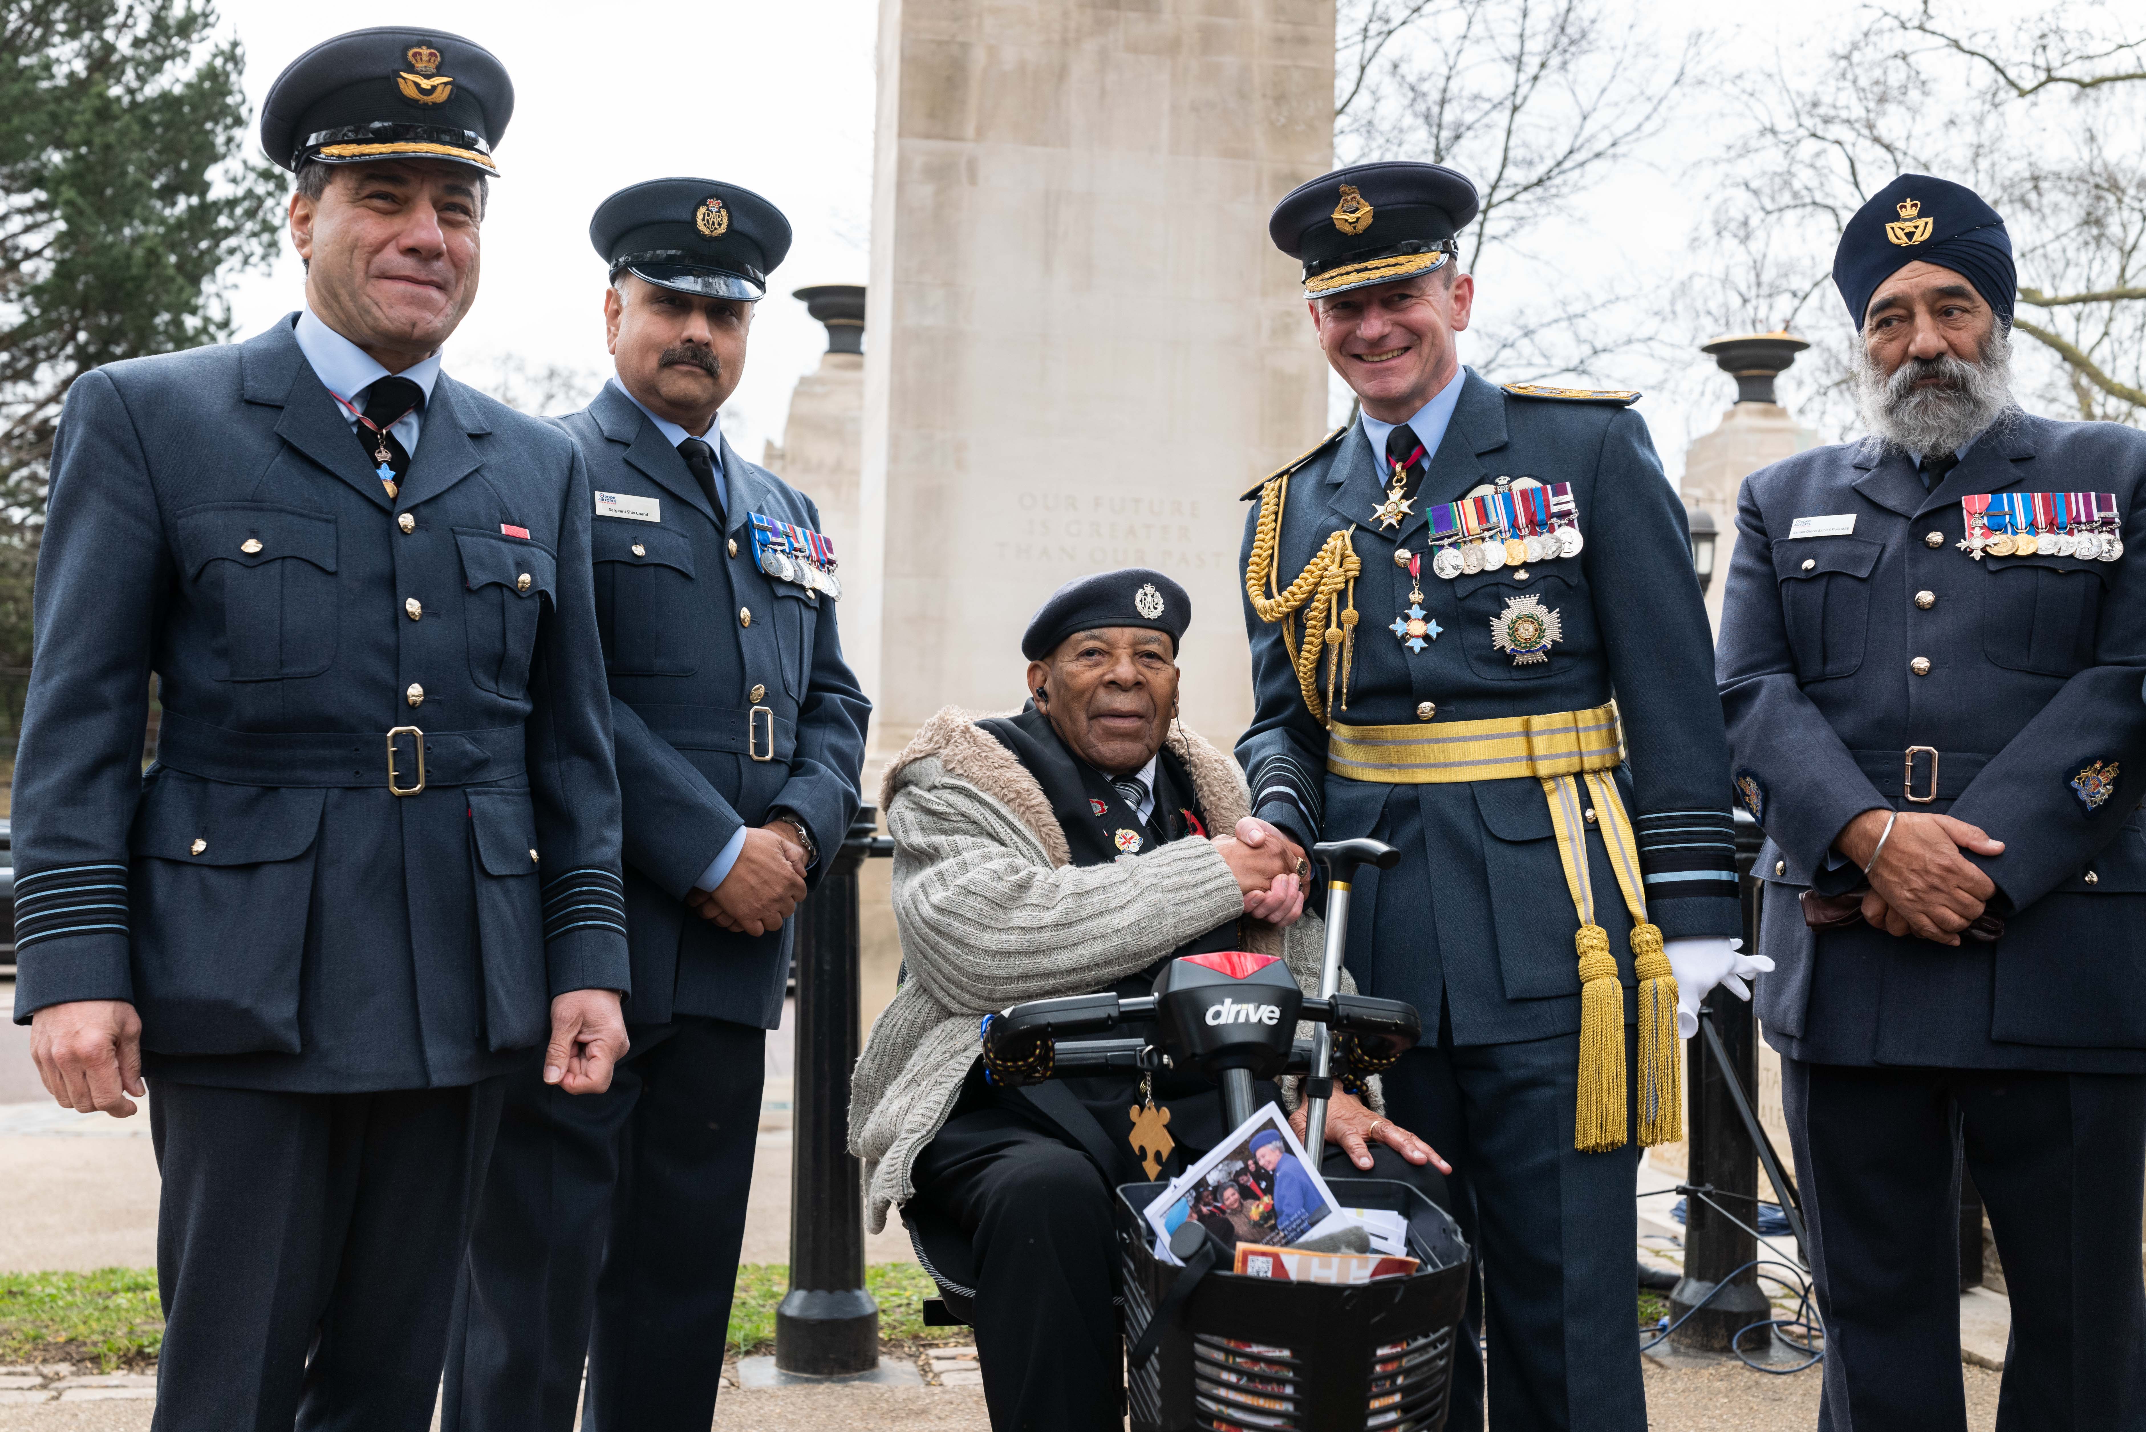
<svg viewBox="0 0 2146 1432">
<path fill-rule="evenodd" d="M 157 764 L 232 786 L 386 786 L 414 797 L 427 786 L 472 786 L 521 775 L 519 726 L 496 730 L 288 732 L 227 730 L 163 713 Z"/>
</svg>

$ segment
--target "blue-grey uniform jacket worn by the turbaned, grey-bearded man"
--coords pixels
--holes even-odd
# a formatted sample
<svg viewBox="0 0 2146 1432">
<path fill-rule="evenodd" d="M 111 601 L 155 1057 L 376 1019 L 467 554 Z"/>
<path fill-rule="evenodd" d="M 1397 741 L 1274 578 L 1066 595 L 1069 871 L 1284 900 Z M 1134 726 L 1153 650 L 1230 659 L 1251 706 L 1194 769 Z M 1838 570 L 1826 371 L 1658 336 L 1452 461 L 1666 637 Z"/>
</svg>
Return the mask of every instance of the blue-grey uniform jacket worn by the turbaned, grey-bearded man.
<svg viewBox="0 0 2146 1432">
<path fill-rule="evenodd" d="M 1959 500 L 2114 492 L 2127 552 L 1959 550 Z M 1745 479 L 1721 614 L 1734 773 L 1766 831 L 1766 1037 L 1846 1065 L 2146 1069 L 2146 434 L 2015 417 L 1923 492 L 1876 442 Z M 1794 537 L 1798 517 L 1826 535 Z M 1916 674 L 1914 661 L 1929 663 Z M 1916 754 L 1914 797 L 1904 784 Z M 2099 775 L 2092 775 L 2099 769 Z M 2110 781 L 2107 777 L 2114 777 Z M 1831 852 L 1865 809 L 1938 812 L 2004 842 L 1968 854 L 2007 930 L 1957 949 L 1867 925 L 1813 934 L 1798 887 L 1863 882 Z"/>
</svg>

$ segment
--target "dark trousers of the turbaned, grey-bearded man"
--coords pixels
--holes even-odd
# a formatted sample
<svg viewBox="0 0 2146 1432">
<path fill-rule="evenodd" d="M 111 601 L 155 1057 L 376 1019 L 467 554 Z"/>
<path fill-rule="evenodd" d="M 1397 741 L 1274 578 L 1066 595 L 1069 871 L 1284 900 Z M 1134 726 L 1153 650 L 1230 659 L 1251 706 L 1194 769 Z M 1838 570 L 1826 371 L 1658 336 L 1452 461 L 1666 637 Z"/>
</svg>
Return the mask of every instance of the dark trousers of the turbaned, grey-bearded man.
<svg viewBox="0 0 2146 1432">
<path fill-rule="evenodd" d="M 1826 1323 L 1820 1432 L 1961 1432 L 1959 1164 L 2011 1346 L 1998 1432 L 2146 1428 L 2146 1076 L 1781 1061 Z"/>
</svg>

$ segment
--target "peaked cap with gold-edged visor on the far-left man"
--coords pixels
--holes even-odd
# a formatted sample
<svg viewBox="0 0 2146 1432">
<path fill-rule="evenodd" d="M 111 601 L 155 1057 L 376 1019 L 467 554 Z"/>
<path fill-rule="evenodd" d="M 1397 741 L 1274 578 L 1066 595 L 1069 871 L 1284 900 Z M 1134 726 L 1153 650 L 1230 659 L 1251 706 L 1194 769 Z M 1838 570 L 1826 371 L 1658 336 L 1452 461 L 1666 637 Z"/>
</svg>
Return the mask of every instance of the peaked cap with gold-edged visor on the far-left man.
<svg viewBox="0 0 2146 1432">
<path fill-rule="evenodd" d="M 382 26 L 313 45 L 268 86 L 262 148 L 296 172 L 307 159 L 449 159 L 498 174 L 491 146 L 515 114 L 515 84 L 489 49 L 444 30 Z"/>
</svg>

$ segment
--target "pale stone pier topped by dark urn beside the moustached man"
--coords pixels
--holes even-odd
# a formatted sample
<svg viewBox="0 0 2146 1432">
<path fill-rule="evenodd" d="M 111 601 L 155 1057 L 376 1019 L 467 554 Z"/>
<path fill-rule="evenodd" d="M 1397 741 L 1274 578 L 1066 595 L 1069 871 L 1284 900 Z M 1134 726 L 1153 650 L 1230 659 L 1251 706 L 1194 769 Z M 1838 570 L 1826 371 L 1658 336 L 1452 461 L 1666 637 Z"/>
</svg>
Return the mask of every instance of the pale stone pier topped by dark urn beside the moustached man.
<svg viewBox="0 0 2146 1432">
<path fill-rule="evenodd" d="M 790 296 L 826 324 L 826 352 L 792 389 L 783 440 L 766 444 L 760 466 L 820 509 L 820 530 L 835 543 L 848 597 L 858 545 L 856 472 L 865 451 L 865 286 L 820 283 Z M 848 616 L 843 610 L 846 623 Z"/>
</svg>

